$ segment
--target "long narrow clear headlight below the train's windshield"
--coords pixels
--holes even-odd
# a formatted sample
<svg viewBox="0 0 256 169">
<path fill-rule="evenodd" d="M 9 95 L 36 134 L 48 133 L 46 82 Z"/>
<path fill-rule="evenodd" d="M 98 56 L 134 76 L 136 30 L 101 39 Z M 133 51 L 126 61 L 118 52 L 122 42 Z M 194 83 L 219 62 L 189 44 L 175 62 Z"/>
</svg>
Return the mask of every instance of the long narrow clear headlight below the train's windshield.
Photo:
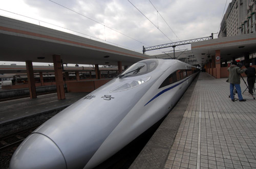
<svg viewBox="0 0 256 169">
<path fill-rule="evenodd" d="M 144 84 L 145 82 L 150 80 L 150 78 L 151 77 L 148 76 L 148 77 L 144 77 L 144 78 L 140 78 L 140 79 L 137 79 L 137 80 L 126 82 L 124 85 L 121 85 L 121 86 L 117 87 L 116 89 L 114 89 L 110 92 L 121 92 L 121 91 L 124 91 L 124 90 L 135 88 L 139 85 Z"/>
</svg>

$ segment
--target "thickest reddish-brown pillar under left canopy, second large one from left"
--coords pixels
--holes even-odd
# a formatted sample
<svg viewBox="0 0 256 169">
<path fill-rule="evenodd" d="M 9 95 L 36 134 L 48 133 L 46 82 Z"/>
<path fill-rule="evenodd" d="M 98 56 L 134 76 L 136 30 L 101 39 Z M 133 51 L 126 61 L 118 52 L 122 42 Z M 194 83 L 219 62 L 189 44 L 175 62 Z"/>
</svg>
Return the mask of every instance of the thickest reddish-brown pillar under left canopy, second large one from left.
<svg viewBox="0 0 256 169">
<path fill-rule="evenodd" d="M 61 60 L 59 54 L 53 54 L 53 65 L 54 65 L 54 73 L 55 73 L 55 81 L 57 88 L 58 100 L 66 99 L 65 91 L 63 86 L 63 76 L 62 76 L 62 67 Z"/>
</svg>

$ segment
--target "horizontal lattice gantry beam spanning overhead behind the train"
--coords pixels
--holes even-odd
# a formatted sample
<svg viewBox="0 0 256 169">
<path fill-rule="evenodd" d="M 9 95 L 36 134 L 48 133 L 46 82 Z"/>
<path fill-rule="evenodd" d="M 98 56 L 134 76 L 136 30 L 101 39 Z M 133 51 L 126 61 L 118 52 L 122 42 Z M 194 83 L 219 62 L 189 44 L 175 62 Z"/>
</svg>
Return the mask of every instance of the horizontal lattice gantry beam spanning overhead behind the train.
<svg viewBox="0 0 256 169">
<path fill-rule="evenodd" d="M 151 46 L 151 47 L 144 47 L 143 46 L 142 51 L 143 51 L 143 54 L 145 54 L 145 51 L 162 49 L 162 48 L 166 48 L 166 47 L 173 47 L 174 52 L 175 52 L 175 47 L 176 46 L 186 45 L 186 44 L 190 44 L 190 43 L 193 43 L 193 42 L 205 41 L 205 40 L 210 40 L 210 39 L 214 39 L 214 33 L 211 33 L 211 36 L 209 36 L 209 37 L 203 37 L 203 38 L 190 39 L 190 40 L 179 41 L 179 42 L 166 43 L 166 44 L 156 45 L 156 46 Z"/>
</svg>

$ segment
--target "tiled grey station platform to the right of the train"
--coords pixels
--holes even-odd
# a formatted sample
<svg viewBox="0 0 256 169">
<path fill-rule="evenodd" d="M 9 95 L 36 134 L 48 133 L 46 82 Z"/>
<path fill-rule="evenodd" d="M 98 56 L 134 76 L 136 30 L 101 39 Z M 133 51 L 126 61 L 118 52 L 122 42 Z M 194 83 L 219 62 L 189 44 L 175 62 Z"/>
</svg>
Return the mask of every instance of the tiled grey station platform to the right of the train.
<svg viewBox="0 0 256 169">
<path fill-rule="evenodd" d="M 130 169 L 256 168 L 256 100 L 232 102 L 226 79 L 201 72 Z"/>
</svg>

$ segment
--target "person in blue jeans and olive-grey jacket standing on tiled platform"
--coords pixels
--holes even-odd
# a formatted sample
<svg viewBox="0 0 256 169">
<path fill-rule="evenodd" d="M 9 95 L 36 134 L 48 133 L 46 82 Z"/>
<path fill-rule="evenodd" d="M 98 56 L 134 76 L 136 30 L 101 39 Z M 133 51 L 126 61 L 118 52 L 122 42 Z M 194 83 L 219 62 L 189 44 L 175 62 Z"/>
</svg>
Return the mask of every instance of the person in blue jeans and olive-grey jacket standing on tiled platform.
<svg viewBox="0 0 256 169">
<path fill-rule="evenodd" d="M 240 69 L 240 67 L 237 66 L 237 61 L 233 61 L 227 70 L 229 71 L 228 82 L 230 83 L 231 100 L 234 101 L 233 91 L 234 91 L 234 87 L 236 87 L 239 101 L 246 101 L 245 99 L 243 99 L 241 87 L 240 87 L 240 74 L 244 73 L 246 69 Z"/>
</svg>

